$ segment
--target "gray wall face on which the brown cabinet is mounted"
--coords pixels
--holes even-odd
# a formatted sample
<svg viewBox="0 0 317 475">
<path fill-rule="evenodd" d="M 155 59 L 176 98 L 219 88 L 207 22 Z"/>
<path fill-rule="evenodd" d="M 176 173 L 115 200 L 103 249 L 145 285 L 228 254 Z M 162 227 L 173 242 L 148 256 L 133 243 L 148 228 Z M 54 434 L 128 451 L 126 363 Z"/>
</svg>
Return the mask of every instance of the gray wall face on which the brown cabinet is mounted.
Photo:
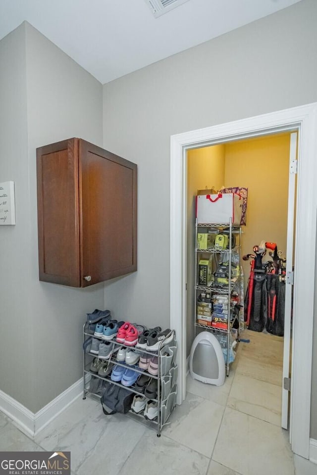
<svg viewBox="0 0 317 475">
<path fill-rule="evenodd" d="M 26 23 L 29 153 L 30 311 L 34 339 L 34 398 L 39 410 L 77 381 L 82 368 L 86 312 L 104 307 L 103 285 L 75 289 L 40 282 L 36 204 L 36 147 L 70 137 L 102 145 L 102 85 Z M 62 371 L 61 371 L 62 369 Z"/>
</svg>

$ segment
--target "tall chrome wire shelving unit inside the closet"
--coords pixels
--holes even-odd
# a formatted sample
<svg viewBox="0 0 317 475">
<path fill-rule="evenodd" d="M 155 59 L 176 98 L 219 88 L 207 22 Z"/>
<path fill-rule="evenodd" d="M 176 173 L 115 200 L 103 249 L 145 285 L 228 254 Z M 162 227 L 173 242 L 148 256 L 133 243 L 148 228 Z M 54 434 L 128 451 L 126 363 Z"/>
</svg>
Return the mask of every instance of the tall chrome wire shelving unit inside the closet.
<svg viewBox="0 0 317 475">
<path fill-rule="evenodd" d="M 229 248 L 228 249 L 215 249 L 214 247 L 209 247 L 207 249 L 201 249 L 198 247 L 198 230 L 203 229 L 203 228 L 208 228 L 211 230 L 213 233 L 217 232 L 222 232 L 224 229 L 229 231 Z M 238 243 L 232 247 L 232 235 L 239 236 Z M 198 223 L 196 219 L 196 246 L 195 246 L 195 331 L 202 331 L 202 330 L 208 330 L 211 332 L 220 332 L 220 333 L 225 333 L 227 336 L 227 343 L 226 343 L 226 375 L 229 376 L 229 370 L 230 370 L 230 364 L 229 364 L 229 358 L 230 358 L 230 333 L 233 327 L 233 324 L 236 320 L 238 320 L 238 328 L 237 328 L 237 334 L 236 334 L 236 339 L 237 341 L 240 341 L 240 331 L 241 331 L 241 323 L 240 323 L 240 312 L 239 316 L 231 316 L 230 313 L 230 302 L 231 302 L 231 296 L 232 295 L 237 295 L 238 296 L 238 303 L 241 304 L 243 295 L 241 294 L 241 280 L 242 280 L 242 274 L 241 274 L 241 226 L 235 226 L 232 224 L 232 220 L 230 218 L 230 223 L 228 224 L 206 224 L 206 223 Z M 231 260 L 233 256 L 233 252 L 237 252 L 238 254 L 238 265 L 240 268 L 239 272 L 239 277 L 238 278 L 231 278 Z M 221 254 L 228 254 L 229 255 L 229 262 L 228 262 L 228 284 L 227 285 L 216 285 L 215 283 L 211 283 L 211 285 L 199 285 L 198 282 L 198 262 L 200 259 L 200 256 L 203 254 L 208 255 L 212 254 L 213 258 L 216 259 L 217 256 L 221 256 Z M 210 325 L 203 325 L 201 323 L 198 323 L 198 315 L 197 315 L 197 296 L 201 292 L 206 292 L 209 291 L 212 294 L 223 294 L 228 297 L 228 311 L 227 311 L 227 328 L 226 329 L 221 329 L 221 328 L 215 328 Z"/>
</svg>

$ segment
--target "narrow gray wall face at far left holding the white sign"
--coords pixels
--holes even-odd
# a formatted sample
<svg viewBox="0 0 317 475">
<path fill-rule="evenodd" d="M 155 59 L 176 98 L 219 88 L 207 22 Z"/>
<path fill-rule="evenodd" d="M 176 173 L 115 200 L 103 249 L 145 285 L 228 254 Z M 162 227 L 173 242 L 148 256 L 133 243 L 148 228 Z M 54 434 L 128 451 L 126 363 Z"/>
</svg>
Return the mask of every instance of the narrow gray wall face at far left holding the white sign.
<svg viewBox="0 0 317 475">
<path fill-rule="evenodd" d="M 0 181 L 15 184 L 15 226 L 0 227 L 0 389 L 27 405 L 32 399 L 25 27 L 0 41 Z M 14 375 L 14 378 L 12 378 Z"/>
</svg>

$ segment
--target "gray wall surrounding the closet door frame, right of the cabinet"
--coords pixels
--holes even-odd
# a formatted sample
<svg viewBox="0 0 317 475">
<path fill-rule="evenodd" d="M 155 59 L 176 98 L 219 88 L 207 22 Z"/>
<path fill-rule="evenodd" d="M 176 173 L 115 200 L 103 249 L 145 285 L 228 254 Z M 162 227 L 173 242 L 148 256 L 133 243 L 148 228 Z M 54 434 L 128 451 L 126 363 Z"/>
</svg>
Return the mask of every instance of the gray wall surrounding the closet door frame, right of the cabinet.
<svg viewBox="0 0 317 475">
<path fill-rule="evenodd" d="M 303 0 L 104 86 L 104 146 L 139 166 L 138 272 L 105 287 L 123 318 L 169 324 L 170 136 L 317 101 L 316 18 Z"/>
</svg>

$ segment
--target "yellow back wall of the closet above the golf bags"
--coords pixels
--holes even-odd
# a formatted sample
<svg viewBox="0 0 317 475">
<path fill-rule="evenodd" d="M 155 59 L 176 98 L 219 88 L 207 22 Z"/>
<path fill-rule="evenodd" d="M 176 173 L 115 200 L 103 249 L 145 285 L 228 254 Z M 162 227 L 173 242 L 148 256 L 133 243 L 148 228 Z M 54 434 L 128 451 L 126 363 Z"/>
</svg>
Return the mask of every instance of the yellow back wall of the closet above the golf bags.
<svg viewBox="0 0 317 475">
<path fill-rule="evenodd" d="M 242 255 L 264 240 L 286 256 L 289 152 L 289 133 L 225 144 L 225 186 L 248 188 Z M 250 265 L 242 264 L 246 290 Z"/>
</svg>

